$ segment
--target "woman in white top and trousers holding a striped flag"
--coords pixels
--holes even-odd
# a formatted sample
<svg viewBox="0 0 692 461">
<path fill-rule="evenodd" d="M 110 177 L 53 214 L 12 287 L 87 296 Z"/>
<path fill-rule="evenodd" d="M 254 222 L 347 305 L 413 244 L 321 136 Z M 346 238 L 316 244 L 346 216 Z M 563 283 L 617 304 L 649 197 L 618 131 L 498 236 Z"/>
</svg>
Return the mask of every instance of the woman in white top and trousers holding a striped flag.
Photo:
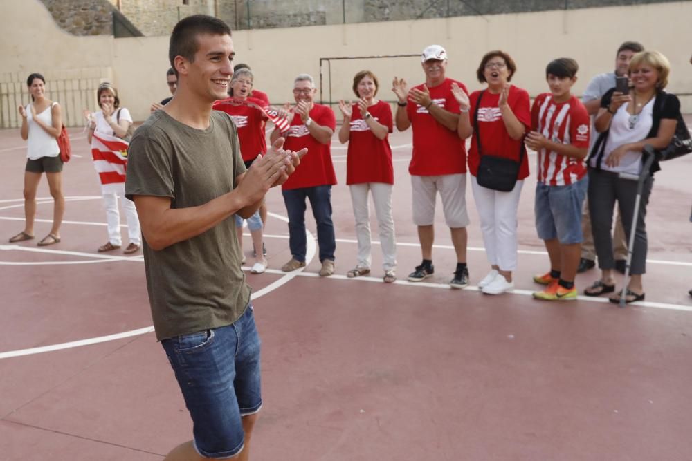
<svg viewBox="0 0 692 461">
<path fill-rule="evenodd" d="M 89 121 L 89 131 L 86 140 L 92 145 L 92 154 L 95 147 L 95 138 L 100 135 L 115 136 L 125 142 L 131 138 L 132 117 L 125 107 L 120 107 L 118 90 L 108 82 L 98 86 L 96 100 L 100 111 L 92 114 Z M 100 161 L 94 158 L 94 161 Z M 129 245 L 123 253 L 131 254 L 142 246 L 142 233 L 139 225 L 137 210 L 134 202 L 125 198 L 125 182 L 104 182 L 101 178 L 101 193 L 103 203 L 106 208 L 106 218 L 108 222 L 108 241 L 98 247 L 98 252 L 110 252 L 117 250 L 122 245 L 120 238 L 120 211 L 118 210 L 118 196 L 122 198 L 122 207 L 125 209 L 127 218 L 127 234 Z"/>
</svg>

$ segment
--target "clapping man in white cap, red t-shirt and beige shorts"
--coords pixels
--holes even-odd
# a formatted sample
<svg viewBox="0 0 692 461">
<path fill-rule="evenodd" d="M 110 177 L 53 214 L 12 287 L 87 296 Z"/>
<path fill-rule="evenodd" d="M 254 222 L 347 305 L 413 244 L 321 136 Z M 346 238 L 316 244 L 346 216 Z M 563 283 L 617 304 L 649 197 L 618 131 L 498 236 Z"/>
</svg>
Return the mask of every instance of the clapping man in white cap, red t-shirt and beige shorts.
<svg viewBox="0 0 692 461">
<path fill-rule="evenodd" d="M 452 288 L 468 285 L 466 267 L 466 147 L 457 136 L 459 103 L 452 94 L 456 83 L 445 77 L 447 52 L 439 45 L 428 46 L 421 56 L 425 84 L 408 91 L 406 81 L 394 77 L 392 91 L 399 99 L 395 121 L 399 131 L 413 127 L 413 153 L 408 172 L 413 189 L 413 222 L 418 226 L 423 262 L 409 274 L 419 282 L 432 276 L 432 243 L 435 241 L 435 197 L 442 198 L 445 222 L 452 234 L 457 267 Z M 466 91 L 468 93 L 468 91 Z"/>
</svg>

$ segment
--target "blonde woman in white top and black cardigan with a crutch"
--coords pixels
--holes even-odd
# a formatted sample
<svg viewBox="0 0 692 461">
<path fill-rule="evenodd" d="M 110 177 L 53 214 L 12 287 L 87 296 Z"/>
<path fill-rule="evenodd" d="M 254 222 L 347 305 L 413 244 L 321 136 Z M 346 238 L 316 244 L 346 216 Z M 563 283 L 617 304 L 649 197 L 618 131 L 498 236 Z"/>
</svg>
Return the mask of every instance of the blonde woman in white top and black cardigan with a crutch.
<svg viewBox="0 0 692 461">
<path fill-rule="evenodd" d="M 637 181 L 620 178 L 620 173 L 641 175 L 642 151 L 646 144 L 654 149 L 664 149 L 670 144 L 677 117 L 680 116 L 680 100 L 666 93 L 671 65 L 657 51 L 642 51 L 630 61 L 631 88 L 628 93 L 610 89 L 601 99 L 601 109 L 594 126 L 601 133 L 589 156 L 589 213 L 594 244 L 601 268 L 601 279 L 584 292 L 587 296 L 615 291 L 613 279 L 614 257 L 610 229 L 615 203 L 622 217 L 625 234 L 635 232 L 630 265 L 630 281 L 625 302 L 644 300 L 642 275 L 646 272 L 646 205 L 653 187 L 653 173 L 660 167 L 654 162 L 646 173 L 639 203 L 637 224 L 632 229 Z M 619 295 L 610 298 L 620 302 Z"/>
</svg>

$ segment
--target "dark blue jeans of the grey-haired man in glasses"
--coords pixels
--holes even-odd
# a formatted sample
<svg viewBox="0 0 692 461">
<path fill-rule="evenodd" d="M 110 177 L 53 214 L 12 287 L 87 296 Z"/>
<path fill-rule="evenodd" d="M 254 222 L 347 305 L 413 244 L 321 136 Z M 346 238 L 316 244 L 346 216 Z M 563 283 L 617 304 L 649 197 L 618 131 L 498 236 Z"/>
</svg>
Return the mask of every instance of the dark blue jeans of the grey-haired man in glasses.
<svg viewBox="0 0 692 461">
<path fill-rule="evenodd" d="M 320 247 L 320 262 L 334 261 L 336 238 L 334 223 L 331 222 L 331 185 L 302 187 L 283 191 L 286 211 L 289 214 L 289 247 L 296 261 L 305 261 L 307 237 L 305 236 L 305 198 L 310 199 L 312 214 L 317 223 L 317 243 Z"/>
</svg>

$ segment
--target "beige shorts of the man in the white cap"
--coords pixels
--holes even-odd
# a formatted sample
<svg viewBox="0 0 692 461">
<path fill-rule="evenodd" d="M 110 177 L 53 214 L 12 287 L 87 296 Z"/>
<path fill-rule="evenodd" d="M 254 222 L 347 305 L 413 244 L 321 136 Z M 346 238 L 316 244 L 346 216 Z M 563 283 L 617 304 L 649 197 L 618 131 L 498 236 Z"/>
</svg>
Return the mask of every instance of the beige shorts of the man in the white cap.
<svg viewBox="0 0 692 461">
<path fill-rule="evenodd" d="M 452 229 L 466 227 L 466 174 L 411 176 L 413 223 L 429 226 L 435 222 L 435 197 L 439 191 L 445 223 Z"/>
</svg>

